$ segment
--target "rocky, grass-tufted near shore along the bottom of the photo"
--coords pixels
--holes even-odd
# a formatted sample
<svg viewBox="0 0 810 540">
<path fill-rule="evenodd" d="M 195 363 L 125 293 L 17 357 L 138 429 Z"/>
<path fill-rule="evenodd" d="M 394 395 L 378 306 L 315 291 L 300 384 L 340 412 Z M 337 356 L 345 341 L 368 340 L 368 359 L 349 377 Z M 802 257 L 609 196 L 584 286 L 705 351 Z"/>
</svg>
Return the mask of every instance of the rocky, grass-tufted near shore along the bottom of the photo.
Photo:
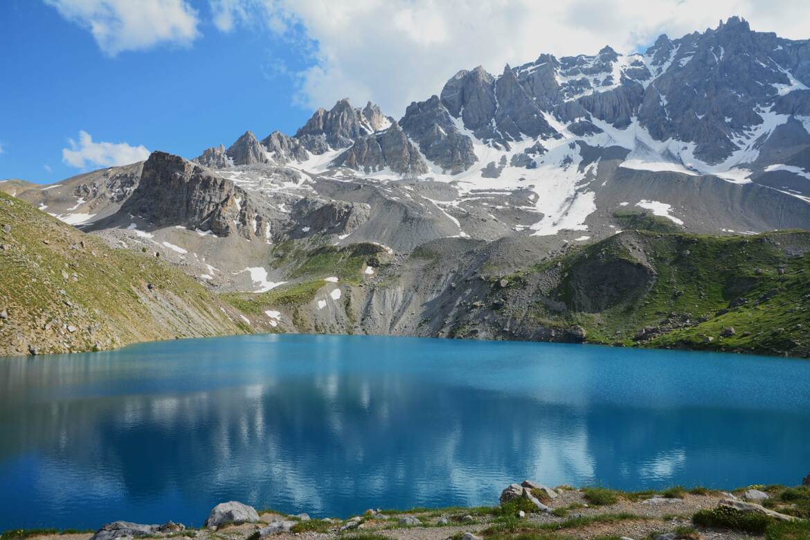
<svg viewBox="0 0 810 540">
<path fill-rule="evenodd" d="M 499 504 L 476 508 L 369 509 L 362 515 L 310 518 L 217 504 L 199 529 L 173 521 L 142 525 L 113 521 L 95 533 L 12 530 L 0 540 L 796 540 L 810 538 L 810 474 L 800 487 L 749 486 L 734 491 L 702 487 L 614 491 L 602 487 L 548 487 L 524 480 L 501 492 Z"/>
</svg>

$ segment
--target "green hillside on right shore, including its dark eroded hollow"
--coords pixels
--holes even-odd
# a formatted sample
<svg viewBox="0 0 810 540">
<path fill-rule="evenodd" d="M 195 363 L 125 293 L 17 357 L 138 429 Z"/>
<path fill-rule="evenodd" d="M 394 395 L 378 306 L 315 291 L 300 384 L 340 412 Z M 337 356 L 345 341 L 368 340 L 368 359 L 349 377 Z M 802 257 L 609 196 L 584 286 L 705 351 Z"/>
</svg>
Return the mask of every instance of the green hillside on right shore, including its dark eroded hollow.
<svg viewBox="0 0 810 540">
<path fill-rule="evenodd" d="M 624 347 L 810 355 L 806 231 L 622 232 L 505 279 L 496 324 L 518 338 L 540 326 Z"/>
</svg>

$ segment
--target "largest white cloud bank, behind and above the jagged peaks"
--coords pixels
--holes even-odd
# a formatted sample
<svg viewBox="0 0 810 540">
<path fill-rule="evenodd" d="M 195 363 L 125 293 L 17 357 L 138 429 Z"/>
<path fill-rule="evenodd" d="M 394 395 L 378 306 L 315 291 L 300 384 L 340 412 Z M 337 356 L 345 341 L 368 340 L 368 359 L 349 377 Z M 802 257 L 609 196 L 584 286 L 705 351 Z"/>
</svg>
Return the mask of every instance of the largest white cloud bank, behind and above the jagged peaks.
<svg viewBox="0 0 810 540">
<path fill-rule="evenodd" d="M 211 9 L 225 32 L 258 21 L 276 36 L 305 32 L 317 45 L 313 65 L 297 74 L 305 104 L 370 99 L 398 117 L 460 69 L 500 74 L 507 62 L 604 45 L 632 52 L 661 33 L 702 32 L 731 15 L 755 30 L 810 37 L 806 0 L 211 0 Z"/>
</svg>

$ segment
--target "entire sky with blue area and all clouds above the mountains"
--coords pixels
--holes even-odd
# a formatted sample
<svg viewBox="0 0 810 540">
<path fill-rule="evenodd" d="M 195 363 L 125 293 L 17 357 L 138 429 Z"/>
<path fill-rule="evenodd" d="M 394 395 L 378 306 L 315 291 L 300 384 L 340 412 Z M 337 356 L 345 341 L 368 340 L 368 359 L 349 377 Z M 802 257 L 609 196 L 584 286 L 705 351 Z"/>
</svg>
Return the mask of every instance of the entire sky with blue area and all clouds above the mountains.
<svg viewBox="0 0 810 540">
<path fill-rule="evenodd" d="M 460 69 L 628 53 L 731 15 L 806 39 L 806 2 L 0 0 L 0 179 L 193 158 L 343 97 L 399 118 Z"/>
</svg>

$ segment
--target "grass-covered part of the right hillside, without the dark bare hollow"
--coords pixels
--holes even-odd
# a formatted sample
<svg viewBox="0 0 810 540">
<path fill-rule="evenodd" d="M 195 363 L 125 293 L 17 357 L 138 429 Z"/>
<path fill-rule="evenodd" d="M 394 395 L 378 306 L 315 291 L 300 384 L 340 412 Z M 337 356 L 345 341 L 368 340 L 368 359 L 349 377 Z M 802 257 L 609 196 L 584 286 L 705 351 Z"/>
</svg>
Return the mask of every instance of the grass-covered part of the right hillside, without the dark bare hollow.
<svg viewBox="0 0 810 540">
<path fill-rule="evenodd" d="M 638 251 L 643 251 L 656 274 L 650 291 L 599 313 L 577 313 L 571 308 L 570 284 L 563 278 L 554 295 L 569 305 L 569 312 L 536 308 L 533 315 L 552 324 L 582 325 L 589 342 L 810 354 L 810 232 L 757 236 L 625 232 L 515 279 L 548 271 L 556 264 L 568 276 L 595 257 L 639 264 L 633 249 L 620 241 L 623 236 L 635 237 Z M 634 339 L 645 327 L 658 335 Z M 721 337 L 730 327 L 735 334 Z"/>
</svg>

